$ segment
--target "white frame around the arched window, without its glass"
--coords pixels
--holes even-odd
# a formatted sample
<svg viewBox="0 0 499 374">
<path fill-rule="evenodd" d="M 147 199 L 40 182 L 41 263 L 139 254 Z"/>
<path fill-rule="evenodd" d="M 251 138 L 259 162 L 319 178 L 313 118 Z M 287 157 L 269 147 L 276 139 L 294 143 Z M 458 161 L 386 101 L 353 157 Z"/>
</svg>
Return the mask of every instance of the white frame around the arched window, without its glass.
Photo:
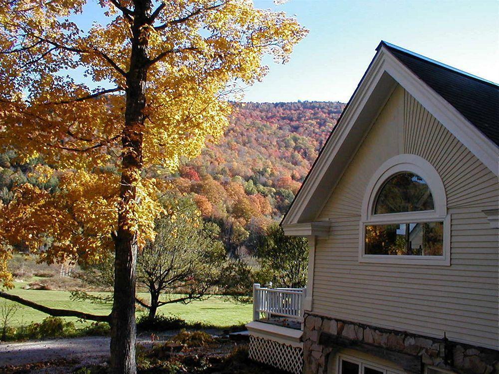
<svg viewBox="0 0 499 374">
<path fill-rule="evenodd" d="M 374 204 L 381 187 L 398 173 L 414 173 L 425 180 L 433 196 L 434 209 L 402 213 L 373 214 Z M 447 213 L 447 198 L 444 184 L 435 168 L 416 155 L 398 155 L 381 165 L 369 181 L 362 202 L 359 227 L 359 261 L 387 264 L 440 265 L 451 264 L 451 217 Z M 442 256 L 374 255 L 365 253 L 366 226 L 372 224 L 443 222 Z"/>
</svg>

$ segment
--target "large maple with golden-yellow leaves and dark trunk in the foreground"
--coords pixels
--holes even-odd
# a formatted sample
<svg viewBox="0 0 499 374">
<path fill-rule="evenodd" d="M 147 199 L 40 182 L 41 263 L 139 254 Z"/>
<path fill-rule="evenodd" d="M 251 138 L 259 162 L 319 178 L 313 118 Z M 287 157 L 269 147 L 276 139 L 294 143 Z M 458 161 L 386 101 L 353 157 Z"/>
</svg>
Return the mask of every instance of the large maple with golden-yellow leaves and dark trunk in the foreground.
<svg viewBox="0 0 499 374">
<path fill-rule="evenodd" d="M 97 11 L 105 22 L 84 30 L 77 19 Z M 134 373 L 136 254 L 168 187 L 147 171 L 174 171 L 220 137 L 230 95 L 265 75 L 262 56 L 285 62 L 305 35 L 249 0 L 0 0 L 0 147 L 59 178 L 0 207 L 3 285 L 9 243 L 47 262 L 114 249 L 111 366 Z"/>
</svg>

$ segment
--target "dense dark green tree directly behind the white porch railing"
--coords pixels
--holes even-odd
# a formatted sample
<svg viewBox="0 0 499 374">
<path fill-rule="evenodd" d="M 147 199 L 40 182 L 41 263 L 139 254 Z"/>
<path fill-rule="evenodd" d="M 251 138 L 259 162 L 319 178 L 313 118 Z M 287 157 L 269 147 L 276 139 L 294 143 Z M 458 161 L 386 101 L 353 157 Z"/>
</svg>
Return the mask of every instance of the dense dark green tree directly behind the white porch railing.
<svg viewBox="0 0 499 374">
<path fill-rule="evenodd" d="M 257 246 L 261 272 L 282 287 L 304 287 L 307 281 L 308 245 L 301 237 L 285 236 L 278 224 L 269 226 Z"/>
</svg>

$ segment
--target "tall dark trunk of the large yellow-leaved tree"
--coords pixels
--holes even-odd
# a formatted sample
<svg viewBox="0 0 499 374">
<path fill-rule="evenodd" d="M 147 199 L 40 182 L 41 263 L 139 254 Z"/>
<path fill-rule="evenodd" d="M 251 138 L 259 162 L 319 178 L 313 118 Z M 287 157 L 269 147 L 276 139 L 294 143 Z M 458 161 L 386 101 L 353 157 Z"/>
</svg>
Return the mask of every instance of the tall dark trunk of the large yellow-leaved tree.
<svg viewBox="0 0 499 374">
<path fill-rule="evenodd" d="M 135 268 L 137 230 L 136 186 L 142 170 L 142 137 L 145 121 L 148 35 L 143 27 L 151 0 L 134 0 L 132 51 L 126 82 L 125 127 L 122 133 L 122 172 L 118 230 L 115 237 L 114 302 L 111 325 L 111 370 L 135 374 Z"/>
</svg>

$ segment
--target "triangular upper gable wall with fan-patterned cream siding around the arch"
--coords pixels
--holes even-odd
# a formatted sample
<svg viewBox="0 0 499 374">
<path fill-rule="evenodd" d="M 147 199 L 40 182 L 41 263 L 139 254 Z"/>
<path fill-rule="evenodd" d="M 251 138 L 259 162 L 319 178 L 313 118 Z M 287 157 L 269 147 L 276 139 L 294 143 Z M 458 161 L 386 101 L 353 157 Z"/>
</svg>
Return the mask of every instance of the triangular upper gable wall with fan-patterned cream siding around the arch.
<svg viewBox="0 0 499 374">
<path fill-rule="evenodd" d="M 360 216 L 372 175 L 385 161 L 401 154 L 422 157 L 433 165 L 444 183 L 448 208 L 476 206 L 487 210 L 495 206 L 496 175 L 398 86 L 315 220 Z"/>
</svg>

